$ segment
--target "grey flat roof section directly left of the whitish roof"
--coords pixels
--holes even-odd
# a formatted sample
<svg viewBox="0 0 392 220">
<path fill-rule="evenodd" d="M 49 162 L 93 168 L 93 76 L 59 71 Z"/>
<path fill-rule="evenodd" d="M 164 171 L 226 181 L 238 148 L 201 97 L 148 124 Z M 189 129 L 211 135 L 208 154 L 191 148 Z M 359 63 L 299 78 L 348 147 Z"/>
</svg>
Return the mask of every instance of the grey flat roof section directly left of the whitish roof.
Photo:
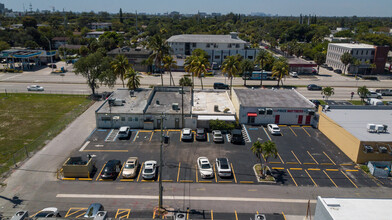
<svg viewBox="0 0 392 220">
<path fill-rule="evenodd" d="M 181 114 L 182 113 L 182 95 L 178 88 L 168 91 L 155 91 L 150 105 L 147 108 L 146 114 Z M 158 101 L 158 102 L 157 102 Z M 191 112 L 191 95 L 189 91 L 184 94 L 184 114 Z M 159 103 L 159 104 L 158 104 Z M 173 103 L 178 104 L 178 110 L 173 109 Z"/>
</svg>

